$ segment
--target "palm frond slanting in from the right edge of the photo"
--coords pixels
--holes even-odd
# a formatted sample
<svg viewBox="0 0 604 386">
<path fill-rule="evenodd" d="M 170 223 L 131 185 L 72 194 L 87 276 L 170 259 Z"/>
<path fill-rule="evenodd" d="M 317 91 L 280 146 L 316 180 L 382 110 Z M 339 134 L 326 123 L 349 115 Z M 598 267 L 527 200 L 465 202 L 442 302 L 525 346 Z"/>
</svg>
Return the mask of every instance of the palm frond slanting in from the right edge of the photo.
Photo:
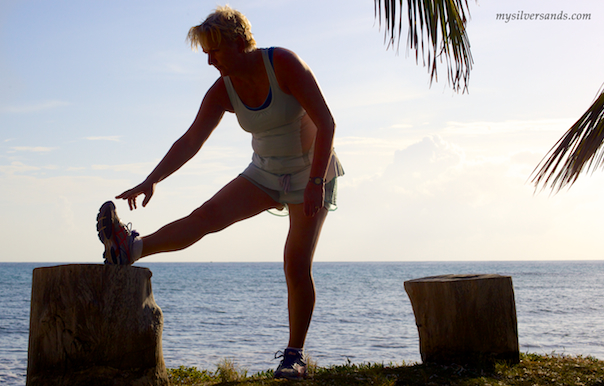
<svg viewBox="0 0 604 386">
<path fill-rule="evenodd" d="M 535 168 L 535 189 L 548 185 L 558 192 L 575 183 L 579 174 L 604 166 L 604 89 L 585 114 L 556 142 Z M 539 170 L 537 170 L 539 169 Z"/>
</svg>

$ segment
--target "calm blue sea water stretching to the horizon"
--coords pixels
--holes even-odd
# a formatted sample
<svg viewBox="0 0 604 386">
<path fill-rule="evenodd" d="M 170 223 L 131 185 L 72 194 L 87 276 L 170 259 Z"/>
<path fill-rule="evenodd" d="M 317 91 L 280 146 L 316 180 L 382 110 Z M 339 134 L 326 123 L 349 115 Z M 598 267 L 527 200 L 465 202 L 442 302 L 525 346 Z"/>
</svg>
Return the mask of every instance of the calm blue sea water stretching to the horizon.
<svg viewBox="0 0 604 386">
<path fill-rule="evenodd" d="M 56 265 L 56 264 L 50 264 Z M 164 313 L 168 367 L 214 370 L 229 358 L 274 368 L 287 343 L 279 263 L 145 264 Z M 0 384 L 24 385 L 32 270 L 0 263 Z M 420 361 L 405 280 L 456 273 L 512 276 L 523 352 L 604 359 L 604 262 L 316 263 L 317 305 L 306 350 L 319 366 Z"/>
</svg>

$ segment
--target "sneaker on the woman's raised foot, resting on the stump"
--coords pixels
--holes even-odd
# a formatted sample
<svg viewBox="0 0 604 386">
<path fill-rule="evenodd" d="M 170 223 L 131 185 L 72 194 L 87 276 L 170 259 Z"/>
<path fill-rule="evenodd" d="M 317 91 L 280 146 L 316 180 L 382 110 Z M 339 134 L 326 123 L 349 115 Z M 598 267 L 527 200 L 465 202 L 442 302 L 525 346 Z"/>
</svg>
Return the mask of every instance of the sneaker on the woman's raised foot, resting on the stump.
<svg viewBox="0 0 604 386">
<path fill-rule="evenodd" d="M 115 205 L 107 201 L 101 206 L 96 218 L 96 230 L 99 239 L 105 245 L 105 264 L 132 264 L 132 242 L 139 235 L 131 229 L 132 225 L 120 222 Z"/>
</svg>

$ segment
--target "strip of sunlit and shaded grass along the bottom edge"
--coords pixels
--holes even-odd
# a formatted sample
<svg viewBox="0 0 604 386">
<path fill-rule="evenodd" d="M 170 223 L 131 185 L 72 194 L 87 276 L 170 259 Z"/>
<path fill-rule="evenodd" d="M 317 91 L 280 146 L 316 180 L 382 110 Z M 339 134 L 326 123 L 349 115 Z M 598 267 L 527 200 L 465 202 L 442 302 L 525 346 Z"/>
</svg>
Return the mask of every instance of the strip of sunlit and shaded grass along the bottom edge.
<svg viewBox="0 0 604 386">
<path fill-rule="evenodd" d="M 333 385 L 333 386 L 604 386 L 604 362 L 593 357 L 521 354 L 520 363 L 497 363 L 489 369 L 457 365 L 353 364 L 309 367 L 304 381 L 274 380 L 273 371 L 247 375 L 246 370 L 224 360 L 215 372 L 181 366 L 169 369 L 174 386 L 210 385 Z"/>
</svg>

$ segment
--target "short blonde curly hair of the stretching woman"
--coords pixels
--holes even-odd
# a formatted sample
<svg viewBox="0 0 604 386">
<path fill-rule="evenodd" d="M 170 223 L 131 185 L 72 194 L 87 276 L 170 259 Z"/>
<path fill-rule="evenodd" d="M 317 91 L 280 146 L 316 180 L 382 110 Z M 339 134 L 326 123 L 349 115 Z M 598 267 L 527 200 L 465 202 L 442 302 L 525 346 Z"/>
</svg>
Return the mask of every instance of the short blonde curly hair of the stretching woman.
<svg viewBox="0 0 604 386">
<path fill-rule="evenodd" d="M 204 51 L 217 48 L 223 38 L 235 41 L 238 37 L 245 43 L 245 52 L 256 48 L 252 24 L 245 15 L 228 5 L 216 8 L 203 23 L 191 27 L 187 34 L 191 48 L 197 50 L 201 47 Z"/>
</svg>

